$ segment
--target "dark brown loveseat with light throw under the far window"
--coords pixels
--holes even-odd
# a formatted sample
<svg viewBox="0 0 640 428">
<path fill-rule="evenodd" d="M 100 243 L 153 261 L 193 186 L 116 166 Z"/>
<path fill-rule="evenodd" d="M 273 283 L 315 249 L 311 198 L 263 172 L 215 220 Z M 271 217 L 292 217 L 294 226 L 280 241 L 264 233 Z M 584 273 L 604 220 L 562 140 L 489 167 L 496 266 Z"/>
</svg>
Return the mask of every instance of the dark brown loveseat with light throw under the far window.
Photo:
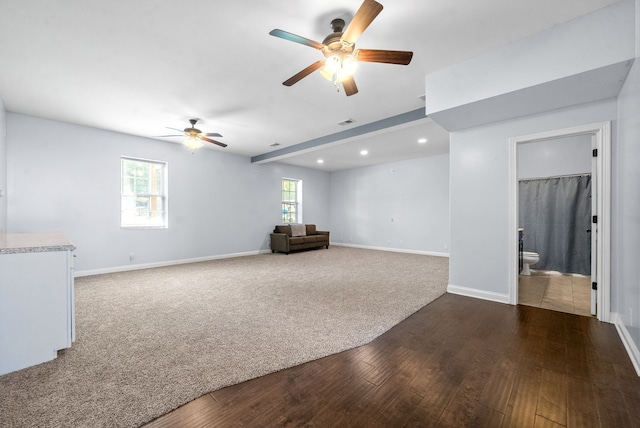
<svg viewBox="0 0 640 428">
<path fill-rule="evenodd" d="M 316 230 L 315 224 L 278 225 L 271 234 L 271 252 L 287 253 L 306 248 L 329 248 L 329 232 Z"/>
</svg>

